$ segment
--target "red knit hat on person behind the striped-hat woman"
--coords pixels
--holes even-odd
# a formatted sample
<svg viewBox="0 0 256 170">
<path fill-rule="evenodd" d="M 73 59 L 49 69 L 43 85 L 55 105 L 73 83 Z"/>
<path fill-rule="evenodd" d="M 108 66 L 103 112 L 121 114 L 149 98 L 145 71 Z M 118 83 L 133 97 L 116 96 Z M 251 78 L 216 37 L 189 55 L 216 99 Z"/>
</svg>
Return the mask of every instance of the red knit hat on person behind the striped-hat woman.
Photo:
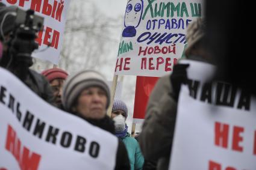
<svg viewBox="0 0 256 170">
<path fill-rule="evenodd" d="M 51 82 L 54 79 L 66 79 L 69 74 L 60 68 L 51 68 L 41 73 L 43 76 Z"/>
</svg>

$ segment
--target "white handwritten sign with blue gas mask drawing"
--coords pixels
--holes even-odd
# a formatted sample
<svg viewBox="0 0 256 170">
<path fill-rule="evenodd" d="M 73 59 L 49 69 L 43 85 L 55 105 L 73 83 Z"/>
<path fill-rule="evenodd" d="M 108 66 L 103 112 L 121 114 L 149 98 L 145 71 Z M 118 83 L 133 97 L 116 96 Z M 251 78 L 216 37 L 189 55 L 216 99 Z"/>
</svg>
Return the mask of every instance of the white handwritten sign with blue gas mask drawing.
<svg viewBox="0 0 256 170">
<path fill-rule="evenodd" d="M 183 55 L 187 26 L 203 12 L 202 0 L 128 0 L 115 73 L 170 73 Z"/>
</svg>

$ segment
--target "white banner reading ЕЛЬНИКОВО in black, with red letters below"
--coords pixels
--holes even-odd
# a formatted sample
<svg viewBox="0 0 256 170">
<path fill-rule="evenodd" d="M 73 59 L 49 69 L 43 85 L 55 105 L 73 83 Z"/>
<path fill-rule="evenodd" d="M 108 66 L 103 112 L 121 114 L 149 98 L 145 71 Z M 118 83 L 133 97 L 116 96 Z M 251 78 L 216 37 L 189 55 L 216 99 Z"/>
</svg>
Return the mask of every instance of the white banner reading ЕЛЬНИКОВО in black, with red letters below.
<svg viewBox="0 0 256 170">
<path fill-rule="evenodd" d="M 0 169 L 114 169 L 111 133 L 40 99 L 0 68 Z"/>
</svg>

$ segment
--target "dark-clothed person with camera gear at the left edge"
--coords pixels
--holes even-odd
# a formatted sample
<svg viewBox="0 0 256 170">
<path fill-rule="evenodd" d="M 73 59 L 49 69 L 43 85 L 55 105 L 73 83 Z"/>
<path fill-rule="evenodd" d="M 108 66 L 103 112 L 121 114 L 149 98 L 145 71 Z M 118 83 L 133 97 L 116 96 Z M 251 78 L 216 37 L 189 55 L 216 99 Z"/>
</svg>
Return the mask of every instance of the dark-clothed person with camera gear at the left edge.
<svg viewBox="0 0 256 170">
<path fill-rule="evenodd" d="M 22 14 L 30 14 L 30 16 L 23 16 L 27 19 L 40 18 L 30 13 L 25 13 L 23 10 Z M 21 14 L 20 14 L 21 15 Z M 0 41 L 3 46 L 3 52 L 0 59 L 0 66 L 11 71 L 22 80 L 23 83 L 27 85 L 34 93 L 40 96 L 43 100 L 48 103 L 54 102 L 54 97 L 52 95 L 51 87 L 46 81 L 45 77 L 31 70 L 29 67 L 33 65 L 33 60 L 31 53 L 36 49 L 36 30 L 34 25 L 25 26 L 23 28 L 22 23 L 16 23 L 17 19 L 17 7 L 10 6 L 6 7 L 2 2 L 0 2 Z M 19 19 L 22 16 L 19 16 Z M 25 23 L 32 22 L 33 20 L 22 21 Z"/>
</svg>

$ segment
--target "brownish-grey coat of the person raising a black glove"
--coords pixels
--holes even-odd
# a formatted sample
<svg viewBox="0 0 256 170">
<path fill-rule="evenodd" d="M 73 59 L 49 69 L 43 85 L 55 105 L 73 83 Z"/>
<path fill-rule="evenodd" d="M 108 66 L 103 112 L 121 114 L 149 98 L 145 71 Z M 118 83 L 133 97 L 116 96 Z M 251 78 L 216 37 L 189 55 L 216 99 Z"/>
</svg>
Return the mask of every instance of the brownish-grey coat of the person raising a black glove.
<svg viewBox="0 0 256 170">
<path fill-rule="evenodd" d="M 161 77 L 149 97 L 145 121 L 139 135 L 145 160 L 157 162 L 157 169 L 168 169 L 174 134 L 177 103 L 169 76 Z"/>
</svg>

